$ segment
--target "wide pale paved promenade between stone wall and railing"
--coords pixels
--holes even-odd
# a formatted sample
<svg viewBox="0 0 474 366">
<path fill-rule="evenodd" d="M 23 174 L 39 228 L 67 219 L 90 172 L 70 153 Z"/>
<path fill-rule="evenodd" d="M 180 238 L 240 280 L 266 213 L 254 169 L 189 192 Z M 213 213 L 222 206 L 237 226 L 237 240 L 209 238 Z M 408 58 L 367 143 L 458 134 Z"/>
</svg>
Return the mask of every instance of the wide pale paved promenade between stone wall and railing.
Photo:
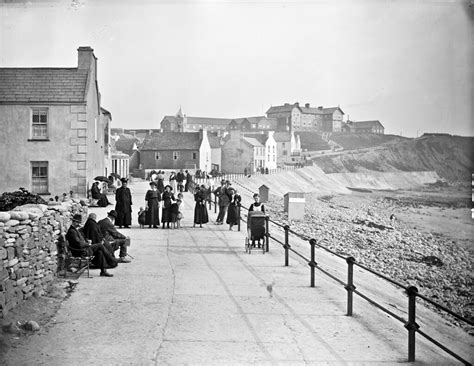
<svg viewBox="0 0 474 366">
<path fill-rule="evenodd" d="M 283 251 L 244 251 L 245 231 L 192 227 L 185 194 L 180 230 L 140 229 L 147 183 L 134 200 L 130 264 L 113 278 L 83 276 L 51 325 L 13 349 L 15 365 L 390 365 L 407 359 L 407 331 Z M 108 208 L 94 208 L 98 218 Z M 211 221 L 216 215 L 210 213 Z M 273 283 L 272 291 L 268 285 Z M 29 352 L 26 352 L 28 349 Z M 34 355 L 34 356 L 26 356 Z M 415 364 L 458 364 L 418 337 Z"/>
</svg>

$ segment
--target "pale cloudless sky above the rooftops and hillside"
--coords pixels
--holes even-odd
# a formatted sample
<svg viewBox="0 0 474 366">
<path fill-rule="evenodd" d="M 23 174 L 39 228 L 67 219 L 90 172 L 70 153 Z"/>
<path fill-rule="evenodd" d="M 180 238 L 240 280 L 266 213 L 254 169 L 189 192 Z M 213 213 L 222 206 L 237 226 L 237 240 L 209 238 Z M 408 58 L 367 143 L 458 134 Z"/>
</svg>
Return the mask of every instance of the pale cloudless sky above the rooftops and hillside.
<svg viewBox="0 0 474 366">
<path fill-rule="evenodd" d="M 386 134 L 474 136 L 466 1 L 0 0 L 0 67 L 98 58 L 112 127 L 340 106 Z"/>
</svg>

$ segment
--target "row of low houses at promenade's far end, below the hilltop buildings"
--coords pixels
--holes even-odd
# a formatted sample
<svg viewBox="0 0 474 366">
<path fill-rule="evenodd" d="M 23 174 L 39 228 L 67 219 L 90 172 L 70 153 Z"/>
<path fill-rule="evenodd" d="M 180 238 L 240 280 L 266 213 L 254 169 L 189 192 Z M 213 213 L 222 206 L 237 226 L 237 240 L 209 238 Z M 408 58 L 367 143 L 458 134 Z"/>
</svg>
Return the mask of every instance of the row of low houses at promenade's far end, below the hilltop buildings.
<svg viewBox="0 0 474 366">
<path fill-rule="evenodd" d="M 206 130 L 154 132 L 143 141 L 130 134 L 113 135 L 112 141 L 130 156 L 130 170 L 141 173 L 153 169 L 250 173 L 301 162 L 300 138 L 288 131 L 247 133 L 236 128 L 225 136 Z"/>
</svg>

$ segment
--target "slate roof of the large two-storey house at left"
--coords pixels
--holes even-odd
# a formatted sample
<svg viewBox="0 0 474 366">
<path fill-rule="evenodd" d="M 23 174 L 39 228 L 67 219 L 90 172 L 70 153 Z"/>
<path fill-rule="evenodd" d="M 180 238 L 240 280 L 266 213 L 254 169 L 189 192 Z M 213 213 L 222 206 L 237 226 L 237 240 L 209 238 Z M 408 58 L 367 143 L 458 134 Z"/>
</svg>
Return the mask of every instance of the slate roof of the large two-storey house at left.
<svg viewBox="0 0 474 366">
<path fill-rule="evenodd" d="M 84 103 L 89 70 L 0 68 L 0 103 Z"/>
</svg>

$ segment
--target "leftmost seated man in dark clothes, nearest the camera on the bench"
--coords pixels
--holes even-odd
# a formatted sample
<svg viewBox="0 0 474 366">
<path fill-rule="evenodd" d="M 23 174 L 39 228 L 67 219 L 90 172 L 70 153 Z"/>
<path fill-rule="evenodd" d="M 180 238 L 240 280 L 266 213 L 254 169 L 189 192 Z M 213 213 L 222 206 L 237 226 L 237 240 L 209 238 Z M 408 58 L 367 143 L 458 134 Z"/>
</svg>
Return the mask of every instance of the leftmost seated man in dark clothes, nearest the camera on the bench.
<svg viewBox="0 0 474 366">
<path fill-rule="evenodd" d="M 106 268 L 113 268 L 117 266 L 117 260 L 110 254 L 110 252 L 101 244 L 89 244 L 79 231 L 81 226 L 82 216 L 75 214 L 72 218 L 72 224 L 66 234 L 66 239 L 71 247 L 72 255 L 81 256 L 85 253 L 87 256 L 94 256 L 97 266 L 100 268 L 100 275 L 102 277 L 113 277 L 113 274 L 107 272 Z"/>
</svg>

